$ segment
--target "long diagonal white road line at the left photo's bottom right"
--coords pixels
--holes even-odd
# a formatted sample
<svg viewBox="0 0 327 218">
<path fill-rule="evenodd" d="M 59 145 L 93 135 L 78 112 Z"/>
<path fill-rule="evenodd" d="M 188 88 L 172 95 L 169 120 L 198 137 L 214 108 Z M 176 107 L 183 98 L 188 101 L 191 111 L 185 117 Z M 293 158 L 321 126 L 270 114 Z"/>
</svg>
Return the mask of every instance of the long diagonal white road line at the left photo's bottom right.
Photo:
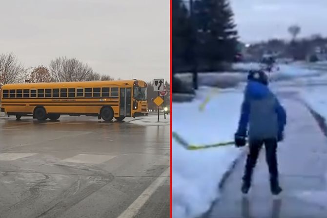
<svg viewBox="0 0 327 218">
<path fill-rule="evenodd" d="M 144 203 L 153 195 L 153 193 L 163 184 L 165 179 L 169 177 L 169 167 L 147 187 L 144 192 L 129 205 L 129 207 L 118 218 L 133 218 L 137 215 Z"/>
</svg>

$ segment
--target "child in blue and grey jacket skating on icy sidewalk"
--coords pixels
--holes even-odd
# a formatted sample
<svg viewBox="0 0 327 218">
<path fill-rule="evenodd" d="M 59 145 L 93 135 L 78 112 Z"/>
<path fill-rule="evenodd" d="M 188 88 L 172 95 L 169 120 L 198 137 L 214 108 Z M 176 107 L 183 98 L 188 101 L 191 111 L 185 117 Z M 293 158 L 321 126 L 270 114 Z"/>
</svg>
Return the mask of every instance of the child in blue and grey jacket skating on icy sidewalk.
<svg viewBox="0 0 327 218">
<path fill-rule="evenodd" d="M 286 112 L 267 85 L 268 79 L 263 71 L 250 71 L 239 127 L 235 134 L 236 146 L 244 146 L 246 137 L 249 142 L 242 185 L 244 194 L 251 186 L 253 168 L 263 144 L 266 147 L 271 193 L 278 195 L 282 192 L 278 181 L 276 150 L 277 142 L 283 140 Z"/>
</svg>

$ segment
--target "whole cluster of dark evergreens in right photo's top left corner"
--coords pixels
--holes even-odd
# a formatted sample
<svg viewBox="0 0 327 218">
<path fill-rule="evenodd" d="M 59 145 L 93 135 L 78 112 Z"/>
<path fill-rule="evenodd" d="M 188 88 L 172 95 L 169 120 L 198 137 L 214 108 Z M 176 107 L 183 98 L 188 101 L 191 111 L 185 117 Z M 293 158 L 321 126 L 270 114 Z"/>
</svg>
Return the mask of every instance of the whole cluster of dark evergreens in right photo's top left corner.
<svg viewBox="0 0 327 218">
<path fill-rule="evenodd" d="M 172 0 L 173 72 L 219 70 L 238 53 L 238 33 L 228 0 Z"/>
</svg>

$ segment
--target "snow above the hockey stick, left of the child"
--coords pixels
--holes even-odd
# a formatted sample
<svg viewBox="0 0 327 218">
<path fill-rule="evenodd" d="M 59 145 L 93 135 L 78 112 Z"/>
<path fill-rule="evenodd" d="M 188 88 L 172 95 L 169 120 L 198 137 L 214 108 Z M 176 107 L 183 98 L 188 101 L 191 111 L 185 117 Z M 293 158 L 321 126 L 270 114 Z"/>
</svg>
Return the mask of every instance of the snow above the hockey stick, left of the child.
<svg viewBox="0 0 327 218">
<path fill-rule="evenodd" d="M 233 140 L 242 100 L 243 93 L 236 89 L 201 88 L 192 102 L 173 104 L 173 131 L 191 144 Z"/>
</svg>

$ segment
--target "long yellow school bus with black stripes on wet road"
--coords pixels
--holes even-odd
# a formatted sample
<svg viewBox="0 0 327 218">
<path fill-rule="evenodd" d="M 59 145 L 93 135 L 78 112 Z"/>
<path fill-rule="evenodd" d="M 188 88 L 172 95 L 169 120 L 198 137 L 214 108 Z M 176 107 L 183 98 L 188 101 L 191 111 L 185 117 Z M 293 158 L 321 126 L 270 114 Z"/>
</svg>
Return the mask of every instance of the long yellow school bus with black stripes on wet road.
<svg viewBox="0 0 327 218">
<path fill-rule="evenodd" d="M 85 115 L 109 121 L 148 115 L 143 80 L 5 84 L 1 89 L 1 112 L 17 119 Z"/>
</svg>

